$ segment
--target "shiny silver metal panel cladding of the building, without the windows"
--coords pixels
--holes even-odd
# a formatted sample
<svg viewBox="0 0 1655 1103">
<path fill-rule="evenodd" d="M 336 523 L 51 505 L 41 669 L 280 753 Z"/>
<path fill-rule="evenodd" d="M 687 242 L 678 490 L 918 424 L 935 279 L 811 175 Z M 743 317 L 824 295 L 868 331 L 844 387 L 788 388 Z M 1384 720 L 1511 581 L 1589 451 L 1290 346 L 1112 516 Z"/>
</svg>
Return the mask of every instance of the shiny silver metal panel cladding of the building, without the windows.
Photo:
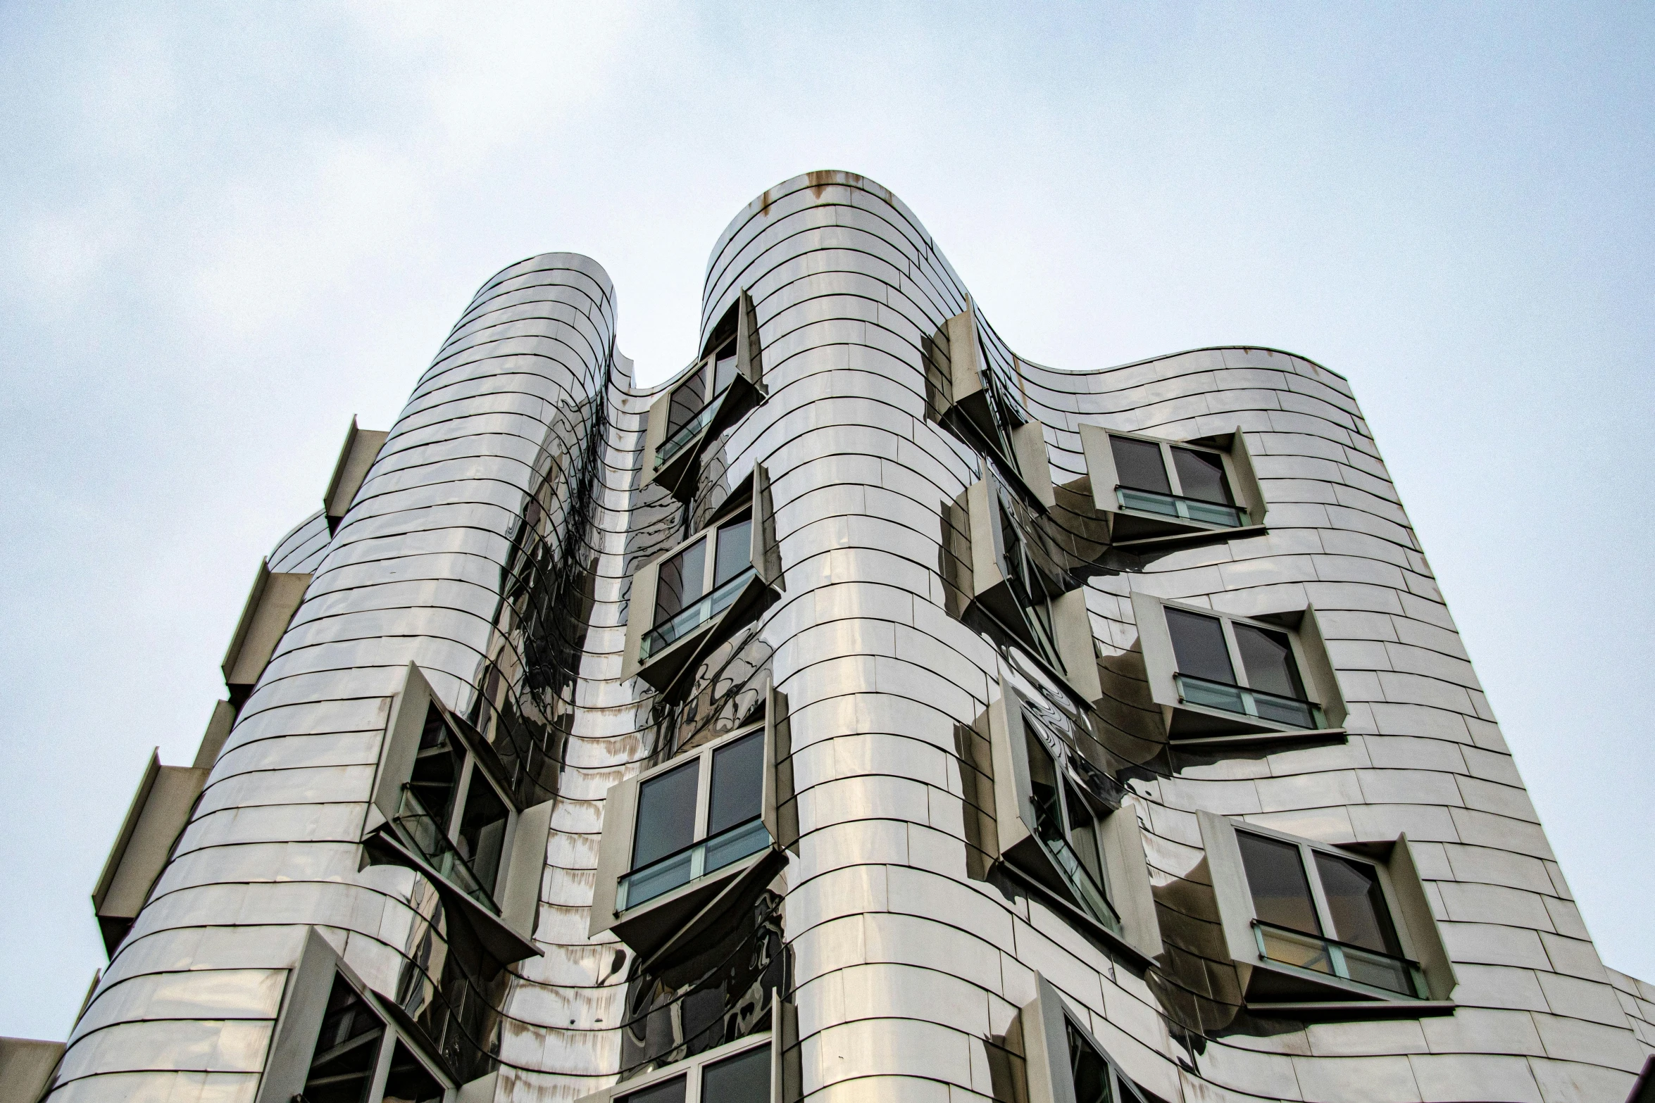
<svg viewBox="0 0 1655 1103">
<path fill-rule="evenodd" d="M 985 336 L 1044 427 L 1056 485 L 1087 473 L 1081 423 L 1165 438 L 1240 427 L 1269 504 L 1264 536 L 1086 584 L 1099 713 L 1167 944 L 1137 976 L 1038 898 L 968 873 L 957 728 L 998 696 L 1006 660 L 947 614 L 943 518 L 985 461 L 927 413 L 922 369 L 967 306 L 963 281 L 885 189 L 821 172 L 732 222 L 687 356 L 740 289 L 770 397 L 715 442 L 702 478 L 728 488 L 765 463 L 786 589 L 695 693 L 717 713 L 768 673 L 789 701 L 801 840 L 784 926 L 808 1098 L 991 1098 L 990 1047 L 1034 999 L 1034 971 L 1163 1100 L 1625 1096 L 1655 1048 L 1655 989 L 1599 962 L 1344 379 L 1268 349 L 1066 372 Z M 410 948 L 442 938 L 417 873 L 359 870 L 409 661 L 462 716 L 487 723 L 510 700 L 556 733 L 544 953 L 513 966 L 495 1098 L 574 1100 L 614 1080 L 627 951 L 586 938 L 602 795 L 665 734 L 649 686 L 621 680 L 629 579 L 685 536 L 679 503 L 640 478 L 664 389 L 632 387 L 614 311 L 591 260 L 501 271 L 338 532 L 318 511 L 271 552 L 271 571 L 314 574 L 306 600 L 76 1024 L 53 1100 L 252 1100 L 308 924 L 382 992 Z M 563 652 L 505 600 L 525 529 L 584 595 L 564 605 Z M 1349 739 L 1225 757 L 1147 736 L 1135 589 L 1245 617 L 1314 605 Z M 1455 1014 L 1246 1020 L 1211 948 L 1198 810 L 1329 843 L 1405 832 L 1460 979 Z"/>
</svg>

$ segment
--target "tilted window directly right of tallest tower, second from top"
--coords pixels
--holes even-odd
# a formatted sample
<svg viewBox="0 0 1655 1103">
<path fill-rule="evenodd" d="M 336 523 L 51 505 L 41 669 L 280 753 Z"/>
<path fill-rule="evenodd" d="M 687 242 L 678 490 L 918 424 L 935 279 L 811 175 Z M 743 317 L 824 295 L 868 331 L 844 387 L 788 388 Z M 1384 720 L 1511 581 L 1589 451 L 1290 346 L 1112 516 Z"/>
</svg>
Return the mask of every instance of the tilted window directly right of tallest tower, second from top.
<svg viewBox="0 0 1655 1103">
<path fill-rule="evenodd" d="M 988 476 L 965 493 L 970 529 L 968 577 L 957 582 L 968 610 L 991 622 L 1064 681 L 1076 696 L 1102 696 L 1086 592 L 1063 571 L 1059 554 L 1043 539 L 1034 511 Z"/>
</svg>

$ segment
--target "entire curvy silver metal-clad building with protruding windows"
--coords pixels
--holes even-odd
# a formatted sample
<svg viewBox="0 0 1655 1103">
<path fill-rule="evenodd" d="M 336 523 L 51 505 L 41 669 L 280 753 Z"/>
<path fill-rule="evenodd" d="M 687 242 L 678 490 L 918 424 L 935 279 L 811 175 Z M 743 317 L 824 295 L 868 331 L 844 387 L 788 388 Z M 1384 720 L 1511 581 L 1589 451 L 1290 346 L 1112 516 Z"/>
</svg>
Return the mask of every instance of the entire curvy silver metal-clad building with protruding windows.
<svg viewBox="0 0 1655 1103">
<path fill-rule="evenodd" d="M 1023 361 L 841 172 L 730 223 L 687 351 L 634 389 L 535 256 L 353 423 L 142 781 L 53 1103 L 1633 1090 L 1655 989 L 1342 377 Z"/>
</svg>

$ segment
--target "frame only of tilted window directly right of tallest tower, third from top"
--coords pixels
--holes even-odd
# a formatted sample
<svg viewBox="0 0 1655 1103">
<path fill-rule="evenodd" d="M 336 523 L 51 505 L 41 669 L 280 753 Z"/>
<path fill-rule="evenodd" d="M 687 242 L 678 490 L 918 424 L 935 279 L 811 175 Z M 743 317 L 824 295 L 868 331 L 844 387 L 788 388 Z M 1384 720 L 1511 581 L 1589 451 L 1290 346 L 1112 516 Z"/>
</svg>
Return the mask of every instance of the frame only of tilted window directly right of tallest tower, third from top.
<svg viewBox="0 0 1655 1103">
<path fill-rule="evenodd" d="M 1086 931 L 1122 953 L 1132 964 L 1140 969 L 1149 967 L 1163 953 L 1163 946 L 1137 812 L 1132 804 L 1122 802 L 1104 815 L 1094 815 L 1097 857 L 1104 865 L 1106 881 L 1099 888 L 1115 913 L 1115 926 L 1111 928 L 1079 900 L 1081 891 L 1069 883 L 1059 858 L 1039 838 L 1039 812 L 1033 800 L 1033 774 L 1024 734 L 1029 723 L 1059 744 L 1061 756 L 1084 761 L 1069 739 L 1051 731 L 1051 726 L 1026 706 L 1023 695 L 1010 680 L 1001 678 L 1000 696 L 988 706 L 991 800 L 983 800 L 981 792 L 976 800 L 978 807 L 993 809 L 995 840 L 988 847 L 990 855 L 1018 881 L 1039 891 L 1044 900 L 1058 903 L 1066 916 L 1079 919 Z M 1041 738 L 1039 731 L 1034 738 Z M 1048 752 L 1053 751 L 1051 741 L 1041 739 Z M 1053 764 L 1063 782 L 1066 771 L 1063 757 L 1053 754 Z"/>
</svg>

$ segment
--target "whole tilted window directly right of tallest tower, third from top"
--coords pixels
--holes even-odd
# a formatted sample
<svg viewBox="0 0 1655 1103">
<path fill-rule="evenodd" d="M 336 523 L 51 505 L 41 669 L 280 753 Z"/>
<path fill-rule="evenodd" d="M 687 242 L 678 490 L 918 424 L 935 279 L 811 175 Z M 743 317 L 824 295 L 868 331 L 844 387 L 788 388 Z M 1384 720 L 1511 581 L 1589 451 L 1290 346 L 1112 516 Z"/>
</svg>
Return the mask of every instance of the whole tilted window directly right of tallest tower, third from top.
<svg viewBox="0 0 1655 1103">
<path fill-rule="evenodd" d="M 1104 941 L 1139 964 L 1162 953 L 1149 865 L 1124 789 L 1061 734 L 1051 709 L 1036 709 L 1010 685 L 988 709 L 993 795 L 967 794 L 995 809 L 1000 858 L 1021 881 L 1077 913 Z"/>
</svg>

